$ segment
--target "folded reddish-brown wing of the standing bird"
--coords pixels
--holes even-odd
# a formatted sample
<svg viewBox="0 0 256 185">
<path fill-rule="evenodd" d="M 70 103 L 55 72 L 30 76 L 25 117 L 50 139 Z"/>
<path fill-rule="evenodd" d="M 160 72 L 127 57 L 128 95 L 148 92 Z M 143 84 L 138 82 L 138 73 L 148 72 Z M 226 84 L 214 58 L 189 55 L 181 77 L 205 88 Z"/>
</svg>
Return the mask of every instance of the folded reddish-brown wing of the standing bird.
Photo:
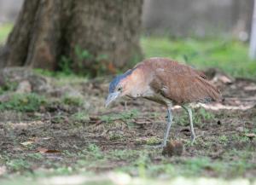
<svg viewBox="0 0 256 185">
<path fill-rule="evenodd" d="M 154 72 L 152 88 L 178 104 L 219 99 L 218 90 L 205 75 L 190 66 L 165 58 L 149 60 L 145 64 Z"/>
</svg>

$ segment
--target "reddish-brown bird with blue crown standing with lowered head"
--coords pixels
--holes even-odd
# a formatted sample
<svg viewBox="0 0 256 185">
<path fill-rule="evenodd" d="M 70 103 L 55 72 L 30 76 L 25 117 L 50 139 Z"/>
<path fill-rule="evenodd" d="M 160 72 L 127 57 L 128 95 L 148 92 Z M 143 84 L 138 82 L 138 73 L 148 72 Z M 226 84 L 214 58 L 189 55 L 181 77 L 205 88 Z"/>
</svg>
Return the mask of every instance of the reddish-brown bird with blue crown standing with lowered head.
<svg viewBox="0 0 256 185">
<path fill-rule="evenodd" d="M 163 142 L 166 143 L 172 126 L 172 107 L 179 105 L 188 113 L 191 142 L 195 142 L 191 103 L 219 101 L 220 91 L 206 75 L 191 66 L 164 57 L 139 62 L 132 69 L 113 78 L 108 88 L 105 107 L 122 96 L 144 98 L 164 105 L 167 123 Z"/>
</svg>

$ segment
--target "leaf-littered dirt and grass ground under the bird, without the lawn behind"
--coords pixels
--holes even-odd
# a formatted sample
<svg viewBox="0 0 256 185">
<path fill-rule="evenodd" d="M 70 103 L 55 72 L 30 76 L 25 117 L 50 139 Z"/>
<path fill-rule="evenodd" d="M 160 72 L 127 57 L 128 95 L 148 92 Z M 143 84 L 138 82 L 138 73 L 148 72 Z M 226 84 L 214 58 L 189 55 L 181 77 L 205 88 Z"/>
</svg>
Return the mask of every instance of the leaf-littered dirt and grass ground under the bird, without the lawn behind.
<svg viewBox="0 0 256 185">
<path fill-rule="evenodd" d="M 172 157 L 152 147 L 162 140 L 166 108 L 125 99 L 106 109 L 109 79 L 47 78 L 49 90 L 37 94 L 13 92 L 27 90 L 20 87 L 24 79 L 20 84 L 9 82 L 0 104 L 1 179 L 114 171 L 164 180 L 177 176 L 253 180 L 256 82 L 236 78 L 223 83 L 218 72 L 215 77 L 224 101 L 195 105 L 194 145 L 186 113 L 173 107 L 172 141 L 183 143 L 184 150 Z"/>
</svg>

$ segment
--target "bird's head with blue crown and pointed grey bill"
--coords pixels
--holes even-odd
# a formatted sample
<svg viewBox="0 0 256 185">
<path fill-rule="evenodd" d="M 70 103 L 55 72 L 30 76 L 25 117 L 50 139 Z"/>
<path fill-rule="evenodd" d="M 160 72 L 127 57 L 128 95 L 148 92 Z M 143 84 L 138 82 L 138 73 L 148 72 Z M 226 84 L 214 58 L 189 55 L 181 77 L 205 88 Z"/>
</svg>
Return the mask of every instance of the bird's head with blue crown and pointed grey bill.
<svg viewBox="0 0 256 185">
<path fill-rule="evenodd" d="M 128 94 L 131 86 L 131 83 L 129 83 L 131 81 L 131 72 L 132 70 L 129 70 L 113 78 L 112 82 L 109 84 L 108 98 L 105 102 L 105 107 L 108 107 L 108 105 L 118 97 Z"/>
</svg>

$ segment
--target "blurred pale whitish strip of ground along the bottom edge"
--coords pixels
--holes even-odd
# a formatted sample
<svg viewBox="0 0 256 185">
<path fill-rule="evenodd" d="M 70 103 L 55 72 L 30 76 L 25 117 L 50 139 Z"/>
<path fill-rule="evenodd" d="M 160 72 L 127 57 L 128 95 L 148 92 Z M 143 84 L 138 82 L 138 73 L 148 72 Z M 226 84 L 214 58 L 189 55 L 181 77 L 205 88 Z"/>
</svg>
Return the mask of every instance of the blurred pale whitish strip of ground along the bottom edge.
<svg viewBox="0 0 256 185">
<path fill-rule="evenodd" d="M 153 178 L 132 178 L 124 173 L 112 173 L 108 175 L 95 176 L 88 173 L 80 174 L 80 176 L 59 176 L 59 177 L 50 177 L 50 176 L 41 176 L 41 178 L 26 178 L 20 177 L 15 178 L 13 183 L 8 182 L 8 180 L 3 180 L 5 185 L 14 185 L 20 184 L 78 184 L 78 185 L 116 185 L 116 184 L 129 184 L 129 185 L 167 185 L 167 184 L 218 184 L 218 185 L 253 185 L 255 182 L 250 182 L 245 179 L 235 179 L 235 180 L 226 180 L 226 179 L 216 179 L 216 178 L 185 178 L 178 176 L 172 179 L 162 178 L 161 180 L 155 180 Z M 60 183 L 61 182 L 61 183 Z M 63 182 L 63 183 L 62 183 Z M 65 182 L 65 183 L 64 183 Z M 70 182 L 70 183 L 69 183 Z M 73 183 L 71 183 L 73 182 Z"/>
</svg>

